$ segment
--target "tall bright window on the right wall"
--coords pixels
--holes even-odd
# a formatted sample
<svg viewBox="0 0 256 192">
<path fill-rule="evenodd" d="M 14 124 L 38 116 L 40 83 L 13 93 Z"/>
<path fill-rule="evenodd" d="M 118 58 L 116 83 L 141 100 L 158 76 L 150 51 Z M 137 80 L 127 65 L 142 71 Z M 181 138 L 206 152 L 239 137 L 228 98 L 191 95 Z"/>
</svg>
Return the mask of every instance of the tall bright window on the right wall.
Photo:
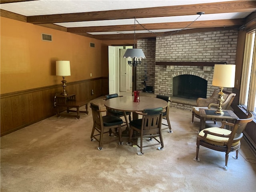
<svg viewBox="0 0 256 192">
<path fill-rule="evenodd" d="M 256 115 L 256 31 L 246 34 L 239 103 Z"/>
</svg>

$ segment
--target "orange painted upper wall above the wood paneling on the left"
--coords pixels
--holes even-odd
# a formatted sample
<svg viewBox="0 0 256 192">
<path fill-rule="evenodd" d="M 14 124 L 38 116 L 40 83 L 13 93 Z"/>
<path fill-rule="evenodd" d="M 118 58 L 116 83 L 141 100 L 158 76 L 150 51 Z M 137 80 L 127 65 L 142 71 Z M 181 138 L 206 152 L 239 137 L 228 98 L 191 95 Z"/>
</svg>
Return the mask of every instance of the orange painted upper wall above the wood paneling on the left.
<svg viewBox="0 0 256 192">
<path fill-rule="evenodd" d="M 0 24 L 1 94 L 62 84 L 56 60 L 70 61 L 67 83 L 102 76 L 102 41 L 4 17 Z M 42 41 L 42 33 L 51 34 L 52 42 Z"/>
</svg>

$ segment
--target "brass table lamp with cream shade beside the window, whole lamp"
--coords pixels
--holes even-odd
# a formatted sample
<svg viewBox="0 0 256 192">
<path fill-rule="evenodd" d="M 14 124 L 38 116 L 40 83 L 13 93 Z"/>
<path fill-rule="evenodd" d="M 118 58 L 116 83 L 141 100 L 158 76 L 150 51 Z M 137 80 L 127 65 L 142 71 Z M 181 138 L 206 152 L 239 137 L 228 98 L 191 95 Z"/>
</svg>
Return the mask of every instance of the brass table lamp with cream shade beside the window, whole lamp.
<svg viewBox="0 0 256 192">
<path fill-rule="evenodd" d="M 236 65 L 227 65 L 227 64 L 215 64 L 214 72 L 212 78 L 212 85 L 218 86 L 220 88 L 220 92 L 218 93 L 218 109 L 216 110 L 216 114 L 224 114 L 222 111 L 221 104 L 224 101 L 223 88 L 232 88 L 235 85 L 235 72 Z"/>
</svg>

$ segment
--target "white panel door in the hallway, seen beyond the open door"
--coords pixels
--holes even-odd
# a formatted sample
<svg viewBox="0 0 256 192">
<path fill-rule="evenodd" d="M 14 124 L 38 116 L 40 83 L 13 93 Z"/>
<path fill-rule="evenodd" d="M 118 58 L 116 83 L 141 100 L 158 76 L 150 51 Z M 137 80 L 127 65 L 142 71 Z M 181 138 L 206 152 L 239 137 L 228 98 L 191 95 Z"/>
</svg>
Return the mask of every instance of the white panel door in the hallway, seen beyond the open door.
<svg viewBox="0 0 256 192">
<path fill-rule="evenodd" d="M 127 90 L 127 74 L 126 74 L 126 65 L 127 59 L 122 56 L 126 52 L 126 49 L 120 49 L 120 91 L 126 92 Z"/>
</svg>

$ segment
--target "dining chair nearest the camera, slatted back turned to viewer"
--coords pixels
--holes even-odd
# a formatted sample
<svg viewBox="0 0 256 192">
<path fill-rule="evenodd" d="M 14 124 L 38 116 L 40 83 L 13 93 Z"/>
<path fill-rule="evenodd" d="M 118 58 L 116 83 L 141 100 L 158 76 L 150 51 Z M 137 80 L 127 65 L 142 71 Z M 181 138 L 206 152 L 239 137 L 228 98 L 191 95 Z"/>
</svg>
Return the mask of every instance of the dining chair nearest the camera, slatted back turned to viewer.
<svg viewBox="0 0 256 192">
<path fill-rule="evenodd" d="M 130 136 L 129 142 L 127 144 L 132 145 L 132 140 L 136 138 L 140 138 L 140 145 L 136 142 L 136 146 L 140 148 L 140 152 L 138 155 L 143 155 L 142 148 L 154 146 L 154 145 L 161 145 L 158 147 L 158 150 L 162 150 L 164 148 L 164 141 L 162 138 L 162 107 L 160 108 L 152 108 L 152 109 L 144 109 L 143 112 L 136 112 L 139 115 L 142 115 L 141 119 L 132 120 L 130 122 Z M 135 132 L 138 132 L 134 134 Z M 159 139 L 157 138 L 159 137 Z M 151 144 L 147 144 L 143 146 L 144 138 L 149 138 L 149 141 L 152 142 Z M 154 142 L 154 140 L 156 142 Z"/>
</svg>

